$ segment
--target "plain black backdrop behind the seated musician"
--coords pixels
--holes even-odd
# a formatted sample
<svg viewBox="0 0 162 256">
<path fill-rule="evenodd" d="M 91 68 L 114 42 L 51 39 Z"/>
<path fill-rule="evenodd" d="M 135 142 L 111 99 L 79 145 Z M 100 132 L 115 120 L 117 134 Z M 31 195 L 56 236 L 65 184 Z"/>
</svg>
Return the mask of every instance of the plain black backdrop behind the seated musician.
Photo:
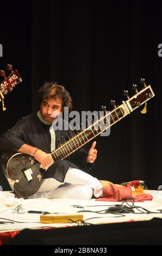
<svg viewBox="0 0 162 256">
<path fill-rule="evenodd" d="M 45 81 L 63 84 L 80 112 L 102 105 L 111 110 L 111 99 L 120 105 L 126 99 L 123 90 L 133 95 L 132 84 L 140 90 L 145 78 L 155 93 L 147 113 L 138 108 L 112 126 L 109 137 L 96 138 L 98 158 L 91 174 L 114 183 L 145 180 L 149 189 L 158 189 L 161 12 L 160 1 L 1 1 L 0 69 L 13 64 L 23 82 L 5 97 L 0 134 L 35 111 L 35 94 Z"/>
</svg>

